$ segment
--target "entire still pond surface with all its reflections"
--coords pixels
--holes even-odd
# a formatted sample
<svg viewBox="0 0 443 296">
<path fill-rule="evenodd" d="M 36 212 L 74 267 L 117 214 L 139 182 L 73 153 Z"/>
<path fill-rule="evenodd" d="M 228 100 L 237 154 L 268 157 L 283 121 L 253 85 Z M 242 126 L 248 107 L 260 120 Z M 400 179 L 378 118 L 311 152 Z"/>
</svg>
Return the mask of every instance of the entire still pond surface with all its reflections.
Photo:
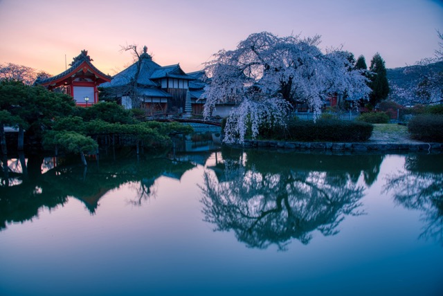
<svg viewBox="0 0 443 296">
<path fill-rule="evenodd" d="M 442 154 L 78 163 L 8 160 L 0 295 L 443 295 Z"/>
</svg>

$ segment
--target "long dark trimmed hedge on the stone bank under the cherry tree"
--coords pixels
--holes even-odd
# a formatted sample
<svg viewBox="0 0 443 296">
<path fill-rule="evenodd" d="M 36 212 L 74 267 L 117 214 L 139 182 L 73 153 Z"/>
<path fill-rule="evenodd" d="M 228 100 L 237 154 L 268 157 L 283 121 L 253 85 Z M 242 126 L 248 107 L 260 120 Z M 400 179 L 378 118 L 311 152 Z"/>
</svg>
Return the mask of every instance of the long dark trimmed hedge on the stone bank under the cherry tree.
<svg viewBox="0 0 443 296">
<path fill-rule="evenodd" d="M 275 140 L 302 142 L 363 142 L 372 135 L 372 124 L 347 120 L 290 120 L 287 127 L 275 129 Z"/>
</svg>

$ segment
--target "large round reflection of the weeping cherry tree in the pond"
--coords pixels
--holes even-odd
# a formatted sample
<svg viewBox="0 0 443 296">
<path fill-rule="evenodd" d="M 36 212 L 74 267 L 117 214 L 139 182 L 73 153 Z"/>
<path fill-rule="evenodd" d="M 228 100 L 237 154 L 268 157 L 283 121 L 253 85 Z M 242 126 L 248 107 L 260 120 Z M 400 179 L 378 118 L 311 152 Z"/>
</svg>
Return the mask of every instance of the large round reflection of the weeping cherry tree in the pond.
<svg viewBox="0 0 443 296">
<path fill-rule="evenodd" d="M 201 189 L 204 220 L 216 230 L 233 230 L 251 248 L 272 244 L 284 250 L 291 239 L 304 244 L 311 232 L 334 235 L 346 215 L 357 210 L 363 187 L 350 174 L 280 167 L 258 170 L 233 158 L 224 160 L 223 181 L 206 171 Z"/>
</svg>

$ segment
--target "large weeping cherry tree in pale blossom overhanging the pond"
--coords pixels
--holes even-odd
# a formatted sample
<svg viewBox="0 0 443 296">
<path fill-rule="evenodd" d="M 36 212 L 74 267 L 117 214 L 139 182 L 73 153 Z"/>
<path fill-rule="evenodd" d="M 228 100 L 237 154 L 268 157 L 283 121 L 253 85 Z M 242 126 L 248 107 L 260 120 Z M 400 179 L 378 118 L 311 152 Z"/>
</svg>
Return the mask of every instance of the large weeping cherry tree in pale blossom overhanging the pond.
<svg viewBox="0 0 443 296">
<path fill-rule="evenodd" d="M 320 115 L 323 102 L 334 93 L 351 100 L 367 99 L 370 93 L 362 71 L 348 60 L 350 53 L 326 50 L 320 36 L 278 37 L 262 32 L 241 41 L 235 50 L 219 50 L 205 64 L 209 78 L 202 97 L 204 115 L 216 104 L 235 102 L 225 127 L 224 142 L 244 141 L 246 130 L 258 136 L 260 124 L 284 125 L 291 109 L 307 103 Z"/>
</svg>

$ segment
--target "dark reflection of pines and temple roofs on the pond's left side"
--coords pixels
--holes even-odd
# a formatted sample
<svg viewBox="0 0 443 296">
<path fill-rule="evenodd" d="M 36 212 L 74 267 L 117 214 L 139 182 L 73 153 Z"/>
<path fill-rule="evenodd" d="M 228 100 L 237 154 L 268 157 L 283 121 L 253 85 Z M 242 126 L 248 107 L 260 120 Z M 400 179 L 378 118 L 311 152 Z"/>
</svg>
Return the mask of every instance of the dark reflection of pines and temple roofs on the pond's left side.
<svg viewBox="0 0 443 296">
<path fill-rule="evenodd" d="M 87 168 L 72 165 L 65 158 L 34 157 L 28 160 L 5 160 L 0 170 L 0 230 L 7 223 L 33 219 L 42 208 L 55 209 L 73 197 L 82 201 L 91 214 L 95 213 L 100 198 L 121 185 L 134 185 L 133 200 L 141 205 L 153 194 L 156 179 L 168 176 L 180 180 L 185 172 L 195 167 L 189 161 L 168 158 L 117 158 Z M 26 163 L 26 165 L 24 165 Z M 10 165 L 11 169 L 5 169 Z M 2 161 L 3 165 L 3 161 Z"/>
</svg>

